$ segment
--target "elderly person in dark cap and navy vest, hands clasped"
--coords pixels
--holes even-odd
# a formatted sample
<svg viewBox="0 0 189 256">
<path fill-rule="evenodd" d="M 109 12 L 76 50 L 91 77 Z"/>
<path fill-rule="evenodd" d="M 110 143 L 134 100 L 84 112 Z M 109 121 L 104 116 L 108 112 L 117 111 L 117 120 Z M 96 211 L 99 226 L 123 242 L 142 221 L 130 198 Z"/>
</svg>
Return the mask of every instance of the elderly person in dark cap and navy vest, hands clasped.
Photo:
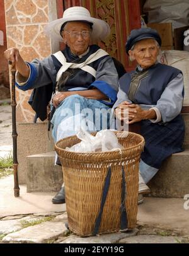
<svg viewBox="0 0 189 256">
<path fill-rule="evenodd" d="M 182 151 L 185 125 L 181 117 L 183 74 L 157 62 L 161 37 L 151 28 L 132 30 L 126 52 L 137 61 L 135 71 L 120 79 L 115 115 L 128 124 L 140 122 L 146 141 L 139 165 L 139 194 L 150 192 L 146 183 L 173 153 Z M 127 117 L 124 117 L 124 110 Z M 141 200 L 142 202 L 142 200 Z"/>
</svg>

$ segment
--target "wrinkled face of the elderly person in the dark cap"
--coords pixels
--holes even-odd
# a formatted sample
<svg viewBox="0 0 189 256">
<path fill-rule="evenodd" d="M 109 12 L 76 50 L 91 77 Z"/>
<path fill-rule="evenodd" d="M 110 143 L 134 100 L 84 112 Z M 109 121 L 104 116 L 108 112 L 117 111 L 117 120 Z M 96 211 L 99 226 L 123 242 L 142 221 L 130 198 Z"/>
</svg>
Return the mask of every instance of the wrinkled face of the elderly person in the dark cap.
<svg viewBox="0 0 189 256">
<path fill-rule="evenodd" d="M 159 54 L 159 47 L 154 39 L 143 39 L 135 44 L 134 50 L 129 50 L 129 55 L 143 69 L 154 65 Z"/>
</svg>

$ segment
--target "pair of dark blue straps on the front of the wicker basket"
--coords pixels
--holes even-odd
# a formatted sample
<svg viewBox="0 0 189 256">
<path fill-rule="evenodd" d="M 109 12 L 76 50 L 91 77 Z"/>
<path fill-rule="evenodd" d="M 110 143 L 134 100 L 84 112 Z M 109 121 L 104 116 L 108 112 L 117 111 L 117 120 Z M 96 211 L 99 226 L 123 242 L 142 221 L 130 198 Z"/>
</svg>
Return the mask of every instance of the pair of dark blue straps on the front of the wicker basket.
<svg viewBox="0 0 189 256">
<path fill-rule="evenodd" d="M 106 179 L 105 179 L 105 187 L 103 189 L 103 195 L 102 195 L 101 205 L 100 205 L 100 212 L 98 214 L 98 217 L 96 218 L 93 236 L 96 236 L 96 234 L 98 233 L 98 230 L 100 228 L 101 215 L 103 213 L 103 208 L 105 206 L 106 197 L 107 197 L 108 190 L 110 187 L 111 172 L 112 172 L 111 167 L 109 167 L 108 173 L 107 173 Z M 122 203 L 121 203 L 121 207 L 120 207 L 120 212 L 121 212 L 121 219 L 120 219 L 121 230 L 120 231 L 121 232 L 127 231 L 127 211 L 125 209 L 125 194 L 126 194 L 125 173 L 124 173 L 123 166 L 122 166 Z"/>
</svg>

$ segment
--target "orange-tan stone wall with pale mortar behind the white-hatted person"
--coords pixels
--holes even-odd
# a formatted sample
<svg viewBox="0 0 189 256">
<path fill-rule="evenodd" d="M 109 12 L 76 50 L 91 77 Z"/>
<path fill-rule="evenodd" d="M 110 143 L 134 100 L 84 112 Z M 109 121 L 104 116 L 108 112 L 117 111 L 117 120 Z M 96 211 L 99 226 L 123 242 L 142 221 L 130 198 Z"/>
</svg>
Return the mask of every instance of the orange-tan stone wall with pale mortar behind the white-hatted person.
<svg viewBox="0 0 189 256">
<path fill-rule="evenodd" d="M 43 59 L 51 53 L 50 40 L 43 27 L 51 20 L 54 0 L 4 0 L 8 48 L 16 47 L 25 61 Z M 28 105 L 31 91 L 16 90 L 17 122 L 33 122 Z"/>
</svg>

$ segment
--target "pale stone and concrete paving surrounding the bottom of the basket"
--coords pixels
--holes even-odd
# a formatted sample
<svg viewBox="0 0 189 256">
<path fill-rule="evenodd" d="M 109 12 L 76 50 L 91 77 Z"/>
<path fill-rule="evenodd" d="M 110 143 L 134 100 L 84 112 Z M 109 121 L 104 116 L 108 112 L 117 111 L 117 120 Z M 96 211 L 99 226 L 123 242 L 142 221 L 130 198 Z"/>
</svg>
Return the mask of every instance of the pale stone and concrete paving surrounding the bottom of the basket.
<svg viewBox="0 0 189 256">
<path fill-rule="evenodd" d="M 139 205 L 137 229 L 131 233 L 80 238 L 67 233 L 66 204 L 52 204 L 53 193 L 26 193 L 20 186 L 20 197 L 14 197 L 13 175 L 0 180 L 0 243 L 188 243 L 189 209 L 183 199 L 146 197 Z M 55 219 L 23 228 L 36 218 Z M 59 217 L 60 216 L 60 217 Z M 48 218 L 49 218 L 48 217 Z M 47 218 L 47 217 L 45 217 Z M 38 221 L 38 220 L 37 220 Z M 29 224 L 30 225 L 30 224 Z M 1 237 L 3 240 L 1 240 Z"/>
</svg>

